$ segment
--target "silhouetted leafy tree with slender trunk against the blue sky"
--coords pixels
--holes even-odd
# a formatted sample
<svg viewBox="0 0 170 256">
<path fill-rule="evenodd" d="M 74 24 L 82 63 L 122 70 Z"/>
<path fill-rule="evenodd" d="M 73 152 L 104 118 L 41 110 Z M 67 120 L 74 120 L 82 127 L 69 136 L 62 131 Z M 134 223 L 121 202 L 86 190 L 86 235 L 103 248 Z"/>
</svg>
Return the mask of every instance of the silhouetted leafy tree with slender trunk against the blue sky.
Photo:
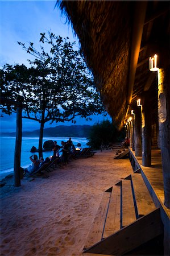
<svg viewBox="0 0 170 256">
<path fill-rule="evenodd" d="M 26 47 L 19 42 L 35 59 L 28 60 L 30 68 L 6 64 L 1 69 L 1 96 L 22 101 L 23 118 L 40 123 L 42 156 L 45 122 L 73 121 L 77 115 L 88 119 L 89 115 L 104 112 L 104 108 L 81 52 L 73 49 L 74 43 L 52 32 L 40 35 L 40 42 L 48 45 L 48 51 L 43 46 L 38 51 L 33 43 Z M 2 107 L 2 112 L 8 114 L 15 111 L 15 106 Z"/>
</svg>

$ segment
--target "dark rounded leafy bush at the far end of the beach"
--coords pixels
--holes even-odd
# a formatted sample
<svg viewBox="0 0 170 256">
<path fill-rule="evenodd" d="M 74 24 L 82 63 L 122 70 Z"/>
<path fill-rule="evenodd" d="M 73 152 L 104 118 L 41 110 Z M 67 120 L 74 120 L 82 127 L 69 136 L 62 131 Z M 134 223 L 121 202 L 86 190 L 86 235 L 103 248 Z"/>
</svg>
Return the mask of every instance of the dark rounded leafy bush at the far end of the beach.
<svg viewBox="0 0 170 256">
<path fill-rule="evenodd" d="M 99 149 L 101 144 L 108 145 L 122 141 L 123 136 L 122 131 L 118 131 L 117 127 L 107 120 L 92 126 L 88 137 L 88 144 L 94 149 Z"/>
</svg>

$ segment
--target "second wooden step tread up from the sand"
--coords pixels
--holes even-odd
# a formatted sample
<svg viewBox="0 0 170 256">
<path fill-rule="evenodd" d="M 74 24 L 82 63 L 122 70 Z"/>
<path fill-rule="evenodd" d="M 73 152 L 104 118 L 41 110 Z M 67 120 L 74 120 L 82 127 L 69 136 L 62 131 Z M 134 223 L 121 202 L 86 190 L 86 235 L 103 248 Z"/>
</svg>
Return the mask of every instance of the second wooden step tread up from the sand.
<svg viewBox="0 0 170 256">
<path fill-rule="evenodd" d="M 114 185 L 106 217 L 103 238 L 109 237 L 121 228 L 121 186 Z"/>
</svg>

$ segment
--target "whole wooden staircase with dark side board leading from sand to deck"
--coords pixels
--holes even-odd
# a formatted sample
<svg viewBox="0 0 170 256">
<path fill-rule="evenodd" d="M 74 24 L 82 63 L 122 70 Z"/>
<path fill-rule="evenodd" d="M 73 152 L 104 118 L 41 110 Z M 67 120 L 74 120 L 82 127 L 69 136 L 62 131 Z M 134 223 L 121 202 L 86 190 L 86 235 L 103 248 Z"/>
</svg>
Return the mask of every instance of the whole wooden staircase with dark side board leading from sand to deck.
<svg viewBox="0 0 170 256">
<path fill-rule="evenodd" d="M 103 192 L 84 253 L 124 255 L 163 233 L 140 170 Z"/>
</svg>

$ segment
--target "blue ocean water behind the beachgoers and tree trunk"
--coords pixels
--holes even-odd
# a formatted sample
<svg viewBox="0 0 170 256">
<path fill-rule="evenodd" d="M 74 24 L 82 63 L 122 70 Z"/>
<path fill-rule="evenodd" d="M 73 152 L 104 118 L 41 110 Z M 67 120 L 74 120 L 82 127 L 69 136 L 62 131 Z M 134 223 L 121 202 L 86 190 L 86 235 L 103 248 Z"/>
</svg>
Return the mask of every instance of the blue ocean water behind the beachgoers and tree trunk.
<svg viewBox="0 0 170 256">
<path fill-rule="evenodd" d="M 43 143 L 45 141 L 57 141 L 57 144 L 61 146 L 61 141 L 67 142 L 69 138 L 54 138 L 54 137 L 44 137 Z M 88 142 L 86 138 L 72 138 L 74 146 L 77 143 L 81 143 L 81 147 L 88 147 L 86 143 Z M 23 137 L 22 138 L 22 152 L 21 152 L 21 167 L 25 168 L 31 164 L 30 156 L 31 147 L 35 146 L 38 148 L 39 137 Z M 14 172 L 14 151 L 15 151 L 15 137 L 0 137 L 0 180 Z M 38 155 L 36 152 L 35 154 Z M 43 158 L 53 155 L 53 151 L 43 152 Z"/>
</svg>

